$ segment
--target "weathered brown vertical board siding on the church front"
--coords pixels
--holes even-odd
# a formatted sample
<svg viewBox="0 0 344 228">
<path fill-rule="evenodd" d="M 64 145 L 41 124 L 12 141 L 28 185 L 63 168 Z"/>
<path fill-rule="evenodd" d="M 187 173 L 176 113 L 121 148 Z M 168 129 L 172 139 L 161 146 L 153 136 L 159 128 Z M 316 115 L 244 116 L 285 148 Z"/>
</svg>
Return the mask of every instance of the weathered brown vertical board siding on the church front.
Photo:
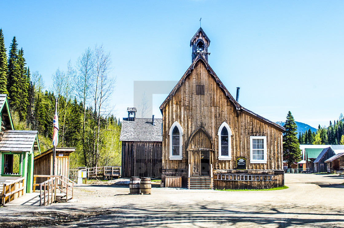
<svg viewBox="0 0 344 228">
<path fill-rule="evenodd" d="M 204 85 L 204 95 L 196 95 L 196 85 Z M 252 99 L 255 98 L 252 96 Z M 169 131 L 175 121 L 178 121 L 183 129 L 182 160 L 169 159 Z M 223 122 L 226 122 L 232 131 L 231 160 L 217 159 L 217 132 Z M 173 169 L 187 170 L 187 142 L 199 127 L 207 131 L 214 144 L 215 151 L 210 155 L 214 169 L 234 169 L 236 158 L 240 156 L 247 158 L 247 169 L 283 169 L 281 130 L 247 112 L 237 112 L 202 61 L 196 63 L 194 70 L 163 109 L 162 166 L 167 173 Z M 267 164 L 249 162 L 250 136 L 267 136 Z"/>
</svg>

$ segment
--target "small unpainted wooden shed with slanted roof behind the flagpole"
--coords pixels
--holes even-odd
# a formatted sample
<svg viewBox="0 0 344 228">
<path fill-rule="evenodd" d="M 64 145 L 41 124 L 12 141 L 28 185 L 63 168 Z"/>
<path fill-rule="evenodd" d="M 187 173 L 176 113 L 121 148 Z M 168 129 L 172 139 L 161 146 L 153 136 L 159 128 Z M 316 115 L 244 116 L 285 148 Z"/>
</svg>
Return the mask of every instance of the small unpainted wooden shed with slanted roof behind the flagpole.
<svg viewBox="0 0 344 228">
<path fill-rule="evenodd" d="M 69 176 L 69 154 L 75 151 L 75 148 L 56 147 L 56 173 L 68 178 Z M 53 148 L 48 149 L 33 159 L 33 175 L 54 175 L 53 174 Z M 34 182 L 42 183 L 46 178 L 37 178 Z"/>
</svg>

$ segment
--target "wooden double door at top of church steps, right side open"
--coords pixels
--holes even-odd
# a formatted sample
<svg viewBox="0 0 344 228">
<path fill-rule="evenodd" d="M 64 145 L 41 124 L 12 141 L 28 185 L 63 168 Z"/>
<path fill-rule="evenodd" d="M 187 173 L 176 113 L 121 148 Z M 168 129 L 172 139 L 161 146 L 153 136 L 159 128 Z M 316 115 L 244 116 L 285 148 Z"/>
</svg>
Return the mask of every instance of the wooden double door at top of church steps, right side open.
<svg viewBox="0 0 344 228">
<path fill-rule="evenodd" d="M 210 151 L 191 151 L 191 176 L 210 176 Z"/>
</svg>

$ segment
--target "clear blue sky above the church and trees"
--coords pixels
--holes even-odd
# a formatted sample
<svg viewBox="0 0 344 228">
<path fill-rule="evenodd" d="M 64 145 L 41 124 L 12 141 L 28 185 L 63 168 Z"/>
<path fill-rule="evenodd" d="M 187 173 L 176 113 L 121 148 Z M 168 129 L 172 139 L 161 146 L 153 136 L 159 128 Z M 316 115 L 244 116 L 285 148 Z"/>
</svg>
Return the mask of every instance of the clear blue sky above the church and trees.
<svg viewBox="0 0 344 228">
<path fill-rule="evenodd" d="M 133 103 L 133 81 L 179 80 L 202 28 L 209 64 L 239 103 L 272 121 L 317 127 L 344 112 L 344 1 L 2 1 L 0 27 L 15 35 L 31 72 L 51 85 L 88 46 L 111 52 L 117 116 Z M 161 116 L 164 96 L 154 98 Z"/>
</svg>

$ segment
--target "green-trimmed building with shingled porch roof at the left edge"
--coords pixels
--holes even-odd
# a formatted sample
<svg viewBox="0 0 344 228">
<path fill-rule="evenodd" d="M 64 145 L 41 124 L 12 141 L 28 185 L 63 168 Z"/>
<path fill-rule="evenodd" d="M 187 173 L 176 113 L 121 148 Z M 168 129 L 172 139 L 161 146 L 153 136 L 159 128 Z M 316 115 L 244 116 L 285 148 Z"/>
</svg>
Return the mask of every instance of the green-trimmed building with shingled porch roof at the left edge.
<svg viewBox="0 0 344 228">
<path fill-rule="evenodd" d="M 41 153 L 37 131 L 14 130 L 8 97 L 0 94 L 0 202 L 4 186 L 21 180 L 21 191 L 32 192 L 33 157 Z M 17 197 L 16 197 L 17 198 Z"/>
</svg>

